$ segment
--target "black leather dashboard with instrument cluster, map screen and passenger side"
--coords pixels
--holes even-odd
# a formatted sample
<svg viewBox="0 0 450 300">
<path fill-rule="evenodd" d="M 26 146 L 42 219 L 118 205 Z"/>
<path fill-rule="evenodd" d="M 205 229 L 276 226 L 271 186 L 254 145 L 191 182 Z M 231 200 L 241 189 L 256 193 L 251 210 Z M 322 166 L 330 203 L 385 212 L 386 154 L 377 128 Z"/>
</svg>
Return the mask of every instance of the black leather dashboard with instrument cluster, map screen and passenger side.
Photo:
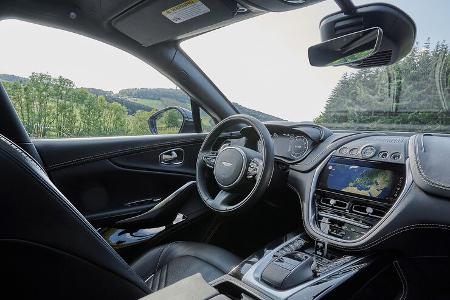
<svg viewBox="0 0 450 300">
<path fill-rule="evenodd" d="M 412 251 L 421 249 L 407 246 L 413 240 L 450 228 L 450 135 L 266 126 L 287 172 L 283 184 L 302 203 L 299 222 L 316 240 L 341 250 Z M 251 133 L 241 134 L 240 143 L 252 145 Z M 261 151 L 257 139 L 254 148 Z"/>
</svg>

